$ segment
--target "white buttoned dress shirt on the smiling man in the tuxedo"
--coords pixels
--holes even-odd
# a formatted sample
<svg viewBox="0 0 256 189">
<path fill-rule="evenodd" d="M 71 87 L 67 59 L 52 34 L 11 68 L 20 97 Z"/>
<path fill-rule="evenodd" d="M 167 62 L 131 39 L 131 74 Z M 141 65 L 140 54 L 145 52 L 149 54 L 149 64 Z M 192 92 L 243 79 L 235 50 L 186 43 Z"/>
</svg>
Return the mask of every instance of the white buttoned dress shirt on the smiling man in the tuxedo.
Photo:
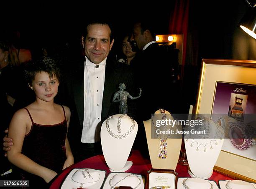
<svg viewBox="0 0 256 189">
<path fill-rule="evenodd" d="M 101 108 L 105 81 L 106 60 L 92 63 L 84 61 L 84 123 L 81 142 L 100 142 Z"/>
</svg>

